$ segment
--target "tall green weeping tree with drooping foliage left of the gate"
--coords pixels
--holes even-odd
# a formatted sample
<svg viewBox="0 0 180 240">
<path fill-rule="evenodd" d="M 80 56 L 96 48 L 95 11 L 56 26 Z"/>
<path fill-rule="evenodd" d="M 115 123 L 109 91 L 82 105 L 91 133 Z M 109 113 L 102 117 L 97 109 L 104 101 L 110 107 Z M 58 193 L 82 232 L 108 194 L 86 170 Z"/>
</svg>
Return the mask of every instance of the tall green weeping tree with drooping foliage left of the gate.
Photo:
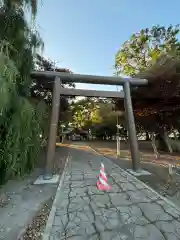
<svg viewBox="0 0 180 240">
<path fill-rule="evenodd" d="M 34 0 L 0 5 L 0 182 L 32 170 L 47 128 L 44 101 L 30 100 L 34 57 L 43 42 L 26 21 L 24 6 L 36 16 Z"/>
</svg>

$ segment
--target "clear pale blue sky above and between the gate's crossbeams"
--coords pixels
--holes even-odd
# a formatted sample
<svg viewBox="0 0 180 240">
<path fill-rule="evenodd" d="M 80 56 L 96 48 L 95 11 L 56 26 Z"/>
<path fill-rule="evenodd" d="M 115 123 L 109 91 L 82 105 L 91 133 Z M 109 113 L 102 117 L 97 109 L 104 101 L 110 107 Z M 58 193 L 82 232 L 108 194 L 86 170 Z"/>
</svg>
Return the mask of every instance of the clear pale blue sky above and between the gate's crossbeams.
<svg viewBox="0 0 180 240">
<path fill-rule="evenodd" d="M 180 1 L 41 0 L 37 30 L 44 56 L 78 74 L 112 76 L 115 54 L 132 33 L 156 24 L 178 24 Z M 116 90 L 116 86 L 77 84 Z"/>
</svg>

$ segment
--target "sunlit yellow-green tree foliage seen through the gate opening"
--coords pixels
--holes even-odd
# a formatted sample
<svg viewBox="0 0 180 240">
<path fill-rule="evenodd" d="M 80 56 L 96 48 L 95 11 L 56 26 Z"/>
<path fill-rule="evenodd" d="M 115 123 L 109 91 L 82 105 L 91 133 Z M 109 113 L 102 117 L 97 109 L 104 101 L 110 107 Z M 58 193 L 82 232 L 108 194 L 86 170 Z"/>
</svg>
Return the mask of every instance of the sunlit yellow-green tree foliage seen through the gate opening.
<svg viewBox="0 0 180 240">
<path fill-rule="evenodd" d="M 101 139 L 116 134 L 117 119 L 110 100 L 85 98 L 73 103 L 71 111 L 71 125 L 74 128 L 91 129 L 92 134 Z"/>
</svg>

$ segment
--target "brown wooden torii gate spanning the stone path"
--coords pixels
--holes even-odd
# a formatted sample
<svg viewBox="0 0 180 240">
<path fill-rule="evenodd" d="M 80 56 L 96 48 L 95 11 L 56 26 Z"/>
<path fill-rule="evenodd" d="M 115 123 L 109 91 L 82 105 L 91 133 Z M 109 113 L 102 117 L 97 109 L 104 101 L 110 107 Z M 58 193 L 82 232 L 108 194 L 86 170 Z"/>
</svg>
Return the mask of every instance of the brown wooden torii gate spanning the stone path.
<svg viewBox="0 0 180 240">
<path fill-rule="evenodd" d="M 54 155 L 56 150 L 56 134 L 60 109 L 60 95 L 124 98 L 125 114 L 126 119 L 128 121 L 128 137 L 132 157 L 132 168 L 134 171 L 138 171 L 140 169 L 140 155 L 136 136 L 134 114 L 132 109 L 130 85 L 133 86 L 147 85 L 148 81 L 146 79 L 122 78 L 117 76 L 107 77 L 107 76 L 82 75 L 55 71 L 35 71 L 32 72 L 31 76 L 32 78 L 35 78 L 37 81 L 41 80 L 40 81 L 41 84 L 44 85 L 53 84 L 51 124 L 48 138 L 46 169 L 44 179 L 48 180 L 51 179 L 53 176 Z M 71 89 L 64 88 L 61 85 L 62 83 L 70 82 L 102 85 L 119 85 L 123 86 L 124 92 Z"/>
</svg>

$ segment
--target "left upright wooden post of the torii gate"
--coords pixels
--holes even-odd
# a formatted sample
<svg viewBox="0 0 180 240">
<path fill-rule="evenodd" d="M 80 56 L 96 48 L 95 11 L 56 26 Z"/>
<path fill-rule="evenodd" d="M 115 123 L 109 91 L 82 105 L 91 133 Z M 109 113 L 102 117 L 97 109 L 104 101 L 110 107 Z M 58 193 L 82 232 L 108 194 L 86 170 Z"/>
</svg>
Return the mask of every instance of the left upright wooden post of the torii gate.
<svg viewBox="0 0 180 240">
<path fill-rule="evenodd" d="M 53 94 L 52 94 L 52 112 L 51 112 L 51 123 L 49 130 L 47 155 L 46 155 L 46 167 L 44 179 L 49 180 L 53 177 L 54 170 L 54 156 L 56 151 L 56 134 L 59 119 L 59 108 L 60 108 L 60 91 L 61 81 L 59 77 L 55 77 Z"/>
</svg>

